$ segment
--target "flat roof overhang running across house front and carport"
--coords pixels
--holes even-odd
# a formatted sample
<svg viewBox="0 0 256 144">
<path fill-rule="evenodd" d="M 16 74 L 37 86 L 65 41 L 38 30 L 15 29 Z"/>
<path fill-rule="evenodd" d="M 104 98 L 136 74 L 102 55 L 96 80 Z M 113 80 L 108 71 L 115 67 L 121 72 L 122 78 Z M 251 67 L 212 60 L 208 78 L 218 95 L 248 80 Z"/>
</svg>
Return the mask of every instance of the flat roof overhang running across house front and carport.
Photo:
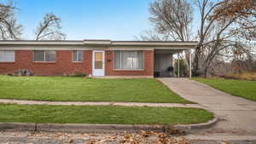
<svg viewBox="0 0 256 144">
<path fill-rule="evenodd" d="M 87 48 L 125 48 L 135 47 L 141 49 L 191 49 L 197 45 L 196 41 L 180 42 L 180 41 L 111 41 L 111 40 L 83 40 L 83 41 L 32 41 L 32 40 L 8 40 L 0 41 L 0 46 L 82 46 Z"/>
</svg>

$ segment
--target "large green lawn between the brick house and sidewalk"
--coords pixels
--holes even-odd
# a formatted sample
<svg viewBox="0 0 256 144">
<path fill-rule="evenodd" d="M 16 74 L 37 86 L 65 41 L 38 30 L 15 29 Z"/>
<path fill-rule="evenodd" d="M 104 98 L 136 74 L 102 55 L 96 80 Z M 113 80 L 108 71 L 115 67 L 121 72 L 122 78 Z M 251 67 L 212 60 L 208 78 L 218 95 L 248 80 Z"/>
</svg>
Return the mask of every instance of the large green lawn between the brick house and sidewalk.
<svg viewBox="0 0 256 144">
<path fill-rule="evenodd" d="M 0 99 L 191 103 L 153 78 L 0 76 Z"/>
</svg>

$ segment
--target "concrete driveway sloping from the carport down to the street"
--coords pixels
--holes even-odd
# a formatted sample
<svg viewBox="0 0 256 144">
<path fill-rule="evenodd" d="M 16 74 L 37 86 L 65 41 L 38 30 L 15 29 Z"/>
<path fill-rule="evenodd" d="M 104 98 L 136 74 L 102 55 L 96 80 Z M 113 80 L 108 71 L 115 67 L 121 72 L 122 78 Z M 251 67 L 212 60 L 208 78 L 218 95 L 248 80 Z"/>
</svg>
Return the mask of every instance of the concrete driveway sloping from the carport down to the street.
<svg viewBox="0 0 256 144">
<path fill-rule="evenodd" d="M 159 78 L 183 98 L 217 114 L 220 121 L 201 133 L 256 135 L 256 101 L 226 94 L 189 78 Z M 255 94 L 256 95 L 256 94 Z"/>
</svg>

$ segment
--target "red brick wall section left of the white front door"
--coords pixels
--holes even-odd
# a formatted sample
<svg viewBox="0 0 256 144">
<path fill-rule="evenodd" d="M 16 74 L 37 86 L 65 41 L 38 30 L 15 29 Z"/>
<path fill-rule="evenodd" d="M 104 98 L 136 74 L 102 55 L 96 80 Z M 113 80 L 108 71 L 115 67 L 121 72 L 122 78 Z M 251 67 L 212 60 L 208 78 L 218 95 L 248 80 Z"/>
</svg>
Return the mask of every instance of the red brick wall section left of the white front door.
<svg viewBox="0 0 256 144">
<path fill-rule="evenodd" d="M 15 50 L 15 62 L 0 62 L 0 73 L 15 73 L 19 69 L 29 69 L 34 75 L 64 75 L 83 72 L 91 73 L 91 51 L 84 51 L 83 62 L 73 62 L 72 51 L 56 50 L 55 62 L 33 62 L 32 50 Z"/>
</svg>

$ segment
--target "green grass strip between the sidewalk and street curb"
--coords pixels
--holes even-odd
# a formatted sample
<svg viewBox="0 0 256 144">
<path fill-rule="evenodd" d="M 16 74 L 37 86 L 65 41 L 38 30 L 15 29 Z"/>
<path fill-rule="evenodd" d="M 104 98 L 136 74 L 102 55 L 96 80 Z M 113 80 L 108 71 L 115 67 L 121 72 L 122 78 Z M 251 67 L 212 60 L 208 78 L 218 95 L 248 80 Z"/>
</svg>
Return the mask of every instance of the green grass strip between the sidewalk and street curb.
<svg viewBox="0 0 256 144">
<path fill-rule="evenodd" d="M 196 108 L 0 105 L 2 123 L 195 124 L 212 118 L 212 112 Z"/>
</svg>

